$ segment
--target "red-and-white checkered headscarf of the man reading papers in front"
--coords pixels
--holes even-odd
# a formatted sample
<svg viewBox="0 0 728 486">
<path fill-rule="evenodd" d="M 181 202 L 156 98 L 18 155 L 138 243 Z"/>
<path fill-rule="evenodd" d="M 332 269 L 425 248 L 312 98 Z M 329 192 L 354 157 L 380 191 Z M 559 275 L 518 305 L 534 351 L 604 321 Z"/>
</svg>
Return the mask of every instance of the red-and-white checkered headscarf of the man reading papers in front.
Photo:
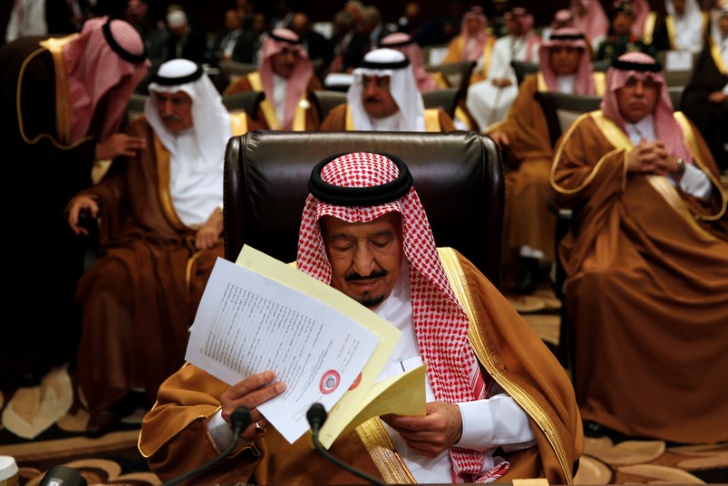
<svg viewBox="0 0 728 486">
<path fill-rule="evenodd" d="M 399 175 L 399 169 L 379 154 L 353 153 L 323 167 L 322 179 L 340 187 L 376 187 Z M 455 297 L 438 257 L 430 223 L 414 187 L 399 199 L 373 207 L 334 206 L 308 195 L 298 236 L 298 268 L 330 284 L 331 266 L 319 228 L 324 215 L 349 223 L 369 222 L 385 213 L 399 212 L 405 256 L 410 262 L 412 318 L 422 359 L 436 400 L 459 403 L 485 398 L 480 366 L 470 348 L 469 321 Z M 450 449 L 453 481 L 494 481 L 499 471 L 481 471 L 483 455 Z"/>
</svg>

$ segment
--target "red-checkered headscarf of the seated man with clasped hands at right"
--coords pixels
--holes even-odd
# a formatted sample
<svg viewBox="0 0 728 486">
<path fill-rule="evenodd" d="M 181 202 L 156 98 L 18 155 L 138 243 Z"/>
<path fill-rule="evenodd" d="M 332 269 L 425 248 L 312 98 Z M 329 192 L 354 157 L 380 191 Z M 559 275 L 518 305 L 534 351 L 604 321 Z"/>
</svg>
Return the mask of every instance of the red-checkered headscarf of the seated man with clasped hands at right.
<svg viewBox="0 0 728 486">
<path fill-rule="evenodd" d="M 620 61 L 626 61 L 637 64 L 654 64 L 656 61 L 652 56 L 641 52 L 629 52 L 619 57 Z M 631 77 L 637 80 L 650 78 L 659 90 L 659 96 L 652 116 L 654 116 L 654 132 L 657 139 L 662 142 L 668 152 L 675 157 L 681 157 L 686 164 L 693 163 L 693 156 L 690 149 L 685 144 L 685 137 L 682 135 L 682 128 L 675 120 L 672 113 L 672 101 L 667 91 L 667 84 L 662 73 L 653 73 L 651 71 L 624 71 L 610 67 L 607 71 L 607 88 L 602 99 L 602 112 L 604 116 L 611 119 L 618 127 L 627 133 L 624 125 L 624 118 L 620 113 L 619 102 L 617 101 L 617 91 L 622 88 Z"/>
</svg>

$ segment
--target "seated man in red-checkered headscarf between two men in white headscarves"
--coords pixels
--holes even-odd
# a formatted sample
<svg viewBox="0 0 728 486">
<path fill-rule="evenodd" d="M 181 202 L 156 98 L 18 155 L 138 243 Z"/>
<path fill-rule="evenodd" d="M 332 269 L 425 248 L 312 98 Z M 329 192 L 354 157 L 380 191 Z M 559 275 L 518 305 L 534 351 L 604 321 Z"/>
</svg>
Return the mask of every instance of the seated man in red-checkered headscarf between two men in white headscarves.
<svg viewBox="0 0 728 486">
<path fill-rule="evenodd" d="M 256 121 L 269 130 L 310 131 L 319 129 L 319 113 L 311 92 L 321 89 L 313 65 L 298 35 L 285 28 L 274 29 L 263 41 L 258 71 L 240 76 L 225 88 L 223 96 L 241 91 L 263 91 Z"/>
</svg>

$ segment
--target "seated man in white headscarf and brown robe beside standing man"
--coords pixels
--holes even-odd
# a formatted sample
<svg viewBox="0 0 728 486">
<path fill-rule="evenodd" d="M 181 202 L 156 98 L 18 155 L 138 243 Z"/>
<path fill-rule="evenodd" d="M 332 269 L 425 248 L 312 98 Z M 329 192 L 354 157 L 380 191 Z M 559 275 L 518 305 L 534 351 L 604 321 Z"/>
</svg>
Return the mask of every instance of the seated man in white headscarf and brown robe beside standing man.
<svg viewBox="0 0 728 486">
<path fill-rule="evenodd" d="M 200 66 L 167 61 L 149 85 L 145 116 L 126 128 L 146 148 L 119 159 L 68 203 L 76 234 L 86 209 L 101 218 L 101 257 L 79 280 L 80 390 L 97 436 L 177 370 L 209 272 L 224 255 L 222 179 L 227 139 L 255 128 L 231 116 Z"/>
</svg>

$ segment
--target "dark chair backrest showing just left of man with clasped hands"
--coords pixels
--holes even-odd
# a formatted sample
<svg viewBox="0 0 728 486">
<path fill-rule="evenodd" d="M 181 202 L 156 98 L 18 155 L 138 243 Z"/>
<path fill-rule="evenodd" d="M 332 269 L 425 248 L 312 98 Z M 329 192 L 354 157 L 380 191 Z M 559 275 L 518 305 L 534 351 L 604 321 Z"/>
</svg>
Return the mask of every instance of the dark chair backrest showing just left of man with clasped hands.
<svg viewBox="0 0 728 486">
<path fill-rule="evenodd" d="M 541 104 L 546 117 L 551 146 L 556 145 L 561 134 L 576 118 L 588 111 L 598 110 L 602 103 L 602 96 L 568 95 L 554 91 L 537 91 L 534 97 Z"/>
</svg>

